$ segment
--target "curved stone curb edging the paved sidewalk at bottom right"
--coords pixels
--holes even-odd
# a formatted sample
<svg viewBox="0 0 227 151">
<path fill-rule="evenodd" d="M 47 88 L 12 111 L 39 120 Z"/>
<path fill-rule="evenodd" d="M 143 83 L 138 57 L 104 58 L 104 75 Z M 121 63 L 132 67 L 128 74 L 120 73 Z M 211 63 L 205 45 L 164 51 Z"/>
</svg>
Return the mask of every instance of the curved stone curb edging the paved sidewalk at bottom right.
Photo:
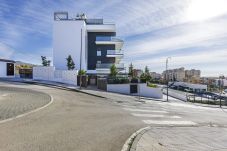
<svg viewBox="0 0 227 151">
<path fill-rule="evenodd" d="M 144 133 L 146 133 L 148 130 L 150 130 L 151 127 L 144 127 L 141 128 L 139 130 L 137 130 L 136 132 L 134 132 L 125 142 L 125 144 L 123 145 L 121 151 L 135 151 L 136 150 L 136 146 L 138 141 L 140 140 L 140 138 L 142 137 L 142 135 Z"/>
</svg>

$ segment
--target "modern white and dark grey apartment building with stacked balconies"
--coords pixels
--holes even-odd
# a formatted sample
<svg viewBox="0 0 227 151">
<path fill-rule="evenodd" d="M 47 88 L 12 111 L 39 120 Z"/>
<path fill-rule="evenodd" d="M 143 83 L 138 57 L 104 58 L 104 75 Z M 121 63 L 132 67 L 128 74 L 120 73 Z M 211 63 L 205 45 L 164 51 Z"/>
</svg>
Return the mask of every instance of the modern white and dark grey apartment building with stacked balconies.
<svg viewBox="0 0 227 151">
<path fill-rule="evenodd" d="M 88 75 L 107 75 L 111 65 L 123 70 L 123 40 L 116 37 L 116 25 L 86 15 L 69 18 L 67 12 L 54 13 L 53 65 L 67 70 L 66 58 L 72 56 L 77 70 Z"/>
</svg>

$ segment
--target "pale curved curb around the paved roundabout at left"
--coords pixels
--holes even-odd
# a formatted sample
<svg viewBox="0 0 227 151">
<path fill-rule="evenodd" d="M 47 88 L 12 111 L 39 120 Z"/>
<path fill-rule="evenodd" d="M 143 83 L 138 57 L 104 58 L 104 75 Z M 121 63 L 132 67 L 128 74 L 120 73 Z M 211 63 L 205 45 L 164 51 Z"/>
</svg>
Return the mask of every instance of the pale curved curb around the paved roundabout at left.
<svg viewBox="0 0 227 151">
<path fill-rule="evenodd" d="M 49 94 L 48 94 L 48 95 L 49 95 Z M 27 115 L 29 115 L 29 114 L 38 112 L 38 111 L 40 111 L 40 110 L 42 110 L 42 109 L 48 107 L 49 105 L 51 105 L 51 104 L 53 103 L 53 100 L 54 100 L 53 97 L 52 97 L 51 95 L 49 95 L 49 96 L 50 96 L 50 99 L 51 99 L 51 100 L 50 100 L 50 102 L 47 103 L 46 105 L 44 105 L 44 106 L 42 106 L 42 107 L 40 107 L 40 108 L 34 109 L 34 110 L 32 110 L 32 111 L 29 111 L 29 112 L 26 112 L 26 113 L 17 115 L 17 116 L 15 116 L 15 117 L 11 117 L 11 118 L 8 118 L 8 119 L 5 119 L 5 120 L 1 120 L 1 121 L 0 121 L 0 124 L 5 123 L 5 122 L 9 122 L 9 121 L 12 121 L 12 120 L 15 120 L 15 119 L 24 117 L 24 116 L 27 116 Z"/>
</svg>

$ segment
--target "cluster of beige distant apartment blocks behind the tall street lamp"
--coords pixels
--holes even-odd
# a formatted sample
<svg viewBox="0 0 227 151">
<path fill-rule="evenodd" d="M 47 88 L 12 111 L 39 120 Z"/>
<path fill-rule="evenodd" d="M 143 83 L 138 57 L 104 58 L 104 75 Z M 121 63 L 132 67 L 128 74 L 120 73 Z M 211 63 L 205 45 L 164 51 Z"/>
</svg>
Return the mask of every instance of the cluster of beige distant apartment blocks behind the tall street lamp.
<svg viewBox="0 0 227 151">
<path fill-rule="evenodd" d="M 164 80 L 200 83 L 200 70 L 185 70 L 183 67 L 178 69 L 171 69 L 163 72 Z"/>
</svg>

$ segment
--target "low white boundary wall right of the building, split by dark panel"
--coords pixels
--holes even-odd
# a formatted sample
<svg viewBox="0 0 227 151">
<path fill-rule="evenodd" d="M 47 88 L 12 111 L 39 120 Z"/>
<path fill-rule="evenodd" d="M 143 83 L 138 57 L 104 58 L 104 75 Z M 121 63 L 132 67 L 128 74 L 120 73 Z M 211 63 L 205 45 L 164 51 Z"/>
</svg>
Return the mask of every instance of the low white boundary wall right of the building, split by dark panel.
<svg viewBox="0 0 227 151">
<path fill-rule="evenodd" d="M 107 84 L 108 92 L 130 94 L 130 84 Z M 163 94 L 161 88 L 151 88 L 147 84 L 138 84 L 138 92 L 140 96 L 162 99 Z"/>
</svg>

